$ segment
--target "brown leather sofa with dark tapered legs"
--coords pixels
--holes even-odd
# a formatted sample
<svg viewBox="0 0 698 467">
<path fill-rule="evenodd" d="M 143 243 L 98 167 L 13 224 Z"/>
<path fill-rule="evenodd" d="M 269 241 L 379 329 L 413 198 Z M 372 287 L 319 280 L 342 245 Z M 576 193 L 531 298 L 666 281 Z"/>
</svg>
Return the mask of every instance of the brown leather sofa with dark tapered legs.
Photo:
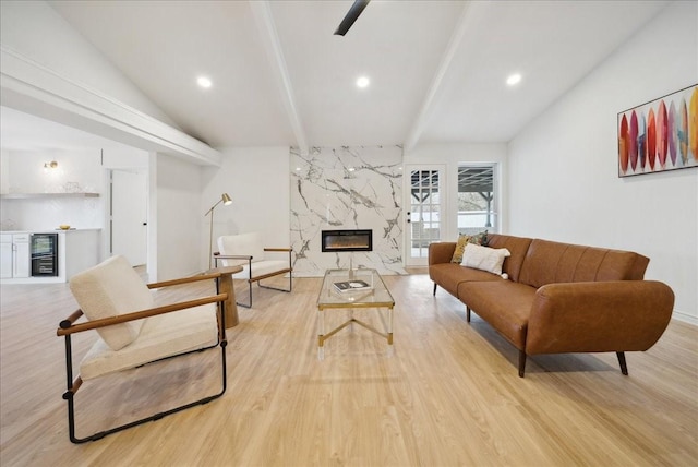
<svg viewBox="0 0 698 467">
<path fill-rule="evenodd" d="M 641 254 L 547 240 L 488 235 L 488 246 L 506 248 L 508 278 L 452 263 L 456 242 L 429 247 L 429 275 L 526 357 L 539 354 L 615 351 L 623 374 L 625 351 L 647 350 L 671 320 L 674 294 L 643 280 Z"/>
</svg>

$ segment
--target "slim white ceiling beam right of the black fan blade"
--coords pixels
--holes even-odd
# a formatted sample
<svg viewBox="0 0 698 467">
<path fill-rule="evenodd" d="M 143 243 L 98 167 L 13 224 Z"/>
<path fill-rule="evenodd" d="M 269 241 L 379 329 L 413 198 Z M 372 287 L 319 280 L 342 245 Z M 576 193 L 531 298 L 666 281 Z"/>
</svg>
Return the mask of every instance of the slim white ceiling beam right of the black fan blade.
<svg viewBox="0 0 698 467">
<path fill-rule="evenodd" d="M 460 13 L 460 17 L 458 19 L 458 23 L 456 24 L 456 28 L 454 29 L 454 34 L 450 36 L 450 40 L 448 41 L 448 46 L 444 51 L 444 56 L 441 59 L 441 63 L 438 64 L 438 69 L 432 79 L 432 82 L 429 86 L 429 92 L 424 97 L 424 101 L 422 103 L 422 107 L 420 108 L 419 113 L 417 115 L 417 119 L 412 123 L 412 128 L 410 132 L 407 134 L 407 139 L 405 140 L 404 148 L 405 151 L 411 151 L 417 145 L 426 123 L 429 122 L 429 118 L 434 111 L 434 104 L 436 100 L 436 96 L 441 89 L 444 77 L 450 68 L 450 63 L 453 62 L 454 56 L 456 55 L 456 50 L 462 40 L 462 36 L 466 33 L 468 17 L 470 16 L 470 9 L 472 7 L 472 1 L 465 2 L 462 7 L 462 12 Z"/>
</svg>

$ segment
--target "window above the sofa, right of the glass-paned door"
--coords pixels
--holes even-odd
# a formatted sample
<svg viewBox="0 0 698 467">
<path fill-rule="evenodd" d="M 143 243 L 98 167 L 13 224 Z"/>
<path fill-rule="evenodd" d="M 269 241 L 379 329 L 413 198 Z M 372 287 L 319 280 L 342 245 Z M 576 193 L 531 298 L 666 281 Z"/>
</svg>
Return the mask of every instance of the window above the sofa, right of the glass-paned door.
<svg viewBox="0 0 698 467">
<path fill-rule="evenodd" d="M 494 164 L 458 167 L 458 234 L 500 230 Z"/>
</svg>

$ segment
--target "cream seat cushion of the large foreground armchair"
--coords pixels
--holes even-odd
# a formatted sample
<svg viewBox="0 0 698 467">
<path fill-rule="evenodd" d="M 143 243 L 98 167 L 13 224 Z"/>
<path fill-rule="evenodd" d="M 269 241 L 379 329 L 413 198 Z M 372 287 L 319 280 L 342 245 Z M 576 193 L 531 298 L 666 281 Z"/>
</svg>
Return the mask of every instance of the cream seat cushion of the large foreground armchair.
<svg viewBox="0 0 698 467">
<path fill-rule="evenodd" d="M 98 339 L 80 363 L 80 375 L 89 380 L 210 347 L 218 342 L 216 310 L 216 304 L 209 303 L 139 320 L 144 324 L 136 340 L 115 351 L 104 339 Z"/>
</svg>

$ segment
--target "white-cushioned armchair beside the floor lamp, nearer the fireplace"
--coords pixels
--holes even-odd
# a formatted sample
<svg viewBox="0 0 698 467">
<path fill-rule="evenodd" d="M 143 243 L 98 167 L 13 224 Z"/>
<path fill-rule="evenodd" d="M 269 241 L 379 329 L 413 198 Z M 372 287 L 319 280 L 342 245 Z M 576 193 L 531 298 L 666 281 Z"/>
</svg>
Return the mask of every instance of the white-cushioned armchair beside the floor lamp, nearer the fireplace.
<svg viewBox="0 0 698 467">
<path fill-rule="evenodd" d="M 242 266 L 242 272 L 234 274 L 233 279 L 244 279 L 249 286 L 248 303 L 240 307 L 252 307 L 252 283 L 257 283 L 262 288 L 290 292 L 293 286 L 293 266 L 291 265 L 291 248 L 265 248 L 262 246 L 262 237 L 258 232 L 240 234 L 218 237 L 219 251 L 214 253 L 216 267 L 219 263 L 224 266 Z M 274 259 L 275 253 L 288 252 L 287 260 Z M 270 254 L 266 254 L 270 253 Z M 288 273 L 288 289 L 264 286 L 261 280 Z"/>
</svg>

